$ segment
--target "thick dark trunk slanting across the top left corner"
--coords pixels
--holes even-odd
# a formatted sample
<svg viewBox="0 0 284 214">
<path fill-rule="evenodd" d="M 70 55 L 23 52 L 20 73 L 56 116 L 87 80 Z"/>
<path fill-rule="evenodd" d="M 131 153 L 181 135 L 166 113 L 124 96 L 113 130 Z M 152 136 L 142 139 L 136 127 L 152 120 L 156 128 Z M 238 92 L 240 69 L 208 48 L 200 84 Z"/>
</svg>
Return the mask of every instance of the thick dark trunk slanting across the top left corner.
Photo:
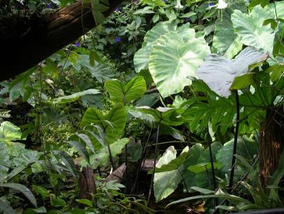
<svg viewBox="0 0 284 214">
<path fill-rule="evenodd" d="M 107 17 L 122 0 L 109 0 Z M 96 26 L 90 3 L 75 4 L 58 9 L 43 17 L 33 16 L 31 23 L 25 17 L 11 22 L 0 19 L 1 58 L 0 80 L 7 80 L 33 68 L 60 48 L 67 46 Z M 12 31 L 6 32 L 6 31 Z"/>
</svg>

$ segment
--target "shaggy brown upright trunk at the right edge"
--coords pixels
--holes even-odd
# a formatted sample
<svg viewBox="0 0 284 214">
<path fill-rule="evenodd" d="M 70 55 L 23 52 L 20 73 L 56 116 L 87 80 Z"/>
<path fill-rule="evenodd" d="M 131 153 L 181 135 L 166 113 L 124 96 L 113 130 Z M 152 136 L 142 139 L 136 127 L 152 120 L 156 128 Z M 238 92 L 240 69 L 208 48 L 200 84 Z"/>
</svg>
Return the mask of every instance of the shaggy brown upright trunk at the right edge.
<svg viewBox="0 0 284 214">
<path fill-rule="evenodd" d="M 259 136 L 259 168 L 261 183 L 267 186 L 269 178 L 278 167 L 284 144 L 283 106 L 266 110 L 266 119 L 261 123 Z"/>
</svg>

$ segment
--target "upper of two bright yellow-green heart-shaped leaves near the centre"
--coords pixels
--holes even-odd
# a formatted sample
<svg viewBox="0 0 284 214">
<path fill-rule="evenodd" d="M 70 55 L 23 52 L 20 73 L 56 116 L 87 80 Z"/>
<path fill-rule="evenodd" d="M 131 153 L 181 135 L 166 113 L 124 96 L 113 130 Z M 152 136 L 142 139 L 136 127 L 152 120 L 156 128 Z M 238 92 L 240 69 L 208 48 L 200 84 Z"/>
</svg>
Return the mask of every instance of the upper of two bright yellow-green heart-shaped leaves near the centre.
<svg viewBox="0 0 284 214">
<path fill-rule="evenodd" d="M 143 77 L 134 77 L 125 85 L 119 80 L 108 80 L 104 87 L 109 92 L 110 98 L 114 102 L 122 102 L 124 105 L 137 100 L 146 91 L 146 82 Z"/>
</svg>

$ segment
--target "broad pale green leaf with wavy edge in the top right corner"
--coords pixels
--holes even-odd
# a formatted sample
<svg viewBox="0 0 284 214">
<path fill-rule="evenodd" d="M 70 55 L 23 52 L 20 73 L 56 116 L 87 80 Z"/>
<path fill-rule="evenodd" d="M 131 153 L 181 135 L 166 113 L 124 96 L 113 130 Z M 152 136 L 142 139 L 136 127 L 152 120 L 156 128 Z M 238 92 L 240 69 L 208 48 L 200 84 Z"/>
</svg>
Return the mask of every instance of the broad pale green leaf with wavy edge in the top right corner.
<svg viewBox="0 0 284 214">
<path fill-rule="evenodd" d="M 268 18 L 274 18 L 274 14 L 261 6 L 255 6 L 250 14 L 242 13 L 239 10 L 235 10 L 231 14 L 235 32 L 242 43 L 272 53 L 275 32 L 270 26 L 263 26 L 263 21 Z"/>
</svg>

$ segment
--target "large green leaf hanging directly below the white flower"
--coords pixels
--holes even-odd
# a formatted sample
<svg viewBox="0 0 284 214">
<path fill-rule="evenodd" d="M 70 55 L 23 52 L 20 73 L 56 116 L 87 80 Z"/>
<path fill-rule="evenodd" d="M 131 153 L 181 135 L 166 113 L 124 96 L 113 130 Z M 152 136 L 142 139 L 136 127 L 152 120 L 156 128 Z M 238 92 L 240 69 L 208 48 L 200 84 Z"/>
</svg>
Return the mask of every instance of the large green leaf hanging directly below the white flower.
<svg viewBox="0 0 284 214">
<path fill-rule="evenodd" d="M 217 19 L 214 31 L 212 46 L 217 49 L 217 54 L 224 55 L 226 58 L 233 58 L 243 46 L 239 36 L 234 33 L 233 23 L 231 22 L 231 13 L 234 9 L 245 11 L 246 6 L 235 3 L 222 10 L 222 17 Z"/>
</svg>

